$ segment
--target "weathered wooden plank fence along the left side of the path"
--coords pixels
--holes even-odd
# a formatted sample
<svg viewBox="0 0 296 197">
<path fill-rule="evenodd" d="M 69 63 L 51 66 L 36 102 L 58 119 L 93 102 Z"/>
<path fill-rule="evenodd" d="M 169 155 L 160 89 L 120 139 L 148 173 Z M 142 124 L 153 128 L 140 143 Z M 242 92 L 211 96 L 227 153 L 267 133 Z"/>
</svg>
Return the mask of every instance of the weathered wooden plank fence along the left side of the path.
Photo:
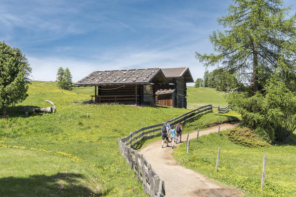
<svg viewBox="0 0 296 197">
<path fill-rule="evenodd" d="M 212 112 L 212 108 L 212 104 L 209 104 L 184 113 L 169 120 L 170 125 L 172 126 L 178 124 L 179 122 L 185 123 L 191 121 L 199 115 Z M 219 110 L 220 113 L 225 113 L 228 109 L 232 108 L 228 105 L 227 107 Z M 130 132 L 129 135 L 122 139 L 118 138 L 120 153 L 126 159 L 130 169 L 135 171 L 139 181 L 142 182 L 144 192 L 148 193 L 150 197 L 164 197 L 166 195 L 165 183 L 146 158 L 139 154 L 136 150 L 132 149 L 132 147 L 141 140 L 162 135 L 161 129 L 163 124 L 164 123 L 160 123 L 157 125 L 142 127 L 139 130 Z"/>
</svg>

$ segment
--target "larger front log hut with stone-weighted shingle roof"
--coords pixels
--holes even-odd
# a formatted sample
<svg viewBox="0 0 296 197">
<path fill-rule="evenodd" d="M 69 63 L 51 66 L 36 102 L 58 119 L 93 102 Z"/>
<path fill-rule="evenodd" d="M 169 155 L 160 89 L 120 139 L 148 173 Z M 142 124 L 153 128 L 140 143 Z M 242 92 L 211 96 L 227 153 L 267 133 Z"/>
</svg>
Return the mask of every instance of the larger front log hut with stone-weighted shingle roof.
<svg viewBox="0 0 296 197">
<path fill-rule="evenodd" d="M 73 86 L 94 86 L 95 103 L 155 104 L 155 85 L 169 82 L 159 68 L 94 71 Z"/>
</svg>

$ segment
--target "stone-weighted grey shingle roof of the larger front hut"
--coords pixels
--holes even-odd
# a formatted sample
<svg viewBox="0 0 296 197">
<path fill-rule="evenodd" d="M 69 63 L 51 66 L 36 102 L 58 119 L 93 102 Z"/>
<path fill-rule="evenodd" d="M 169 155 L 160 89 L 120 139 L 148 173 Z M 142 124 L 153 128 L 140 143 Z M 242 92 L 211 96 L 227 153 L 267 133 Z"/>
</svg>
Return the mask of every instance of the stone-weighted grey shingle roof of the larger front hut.
<svg viewBox="0 0 296 197">
<path fill-rule="evenodd" d="M 159 68 L 94 71 L 74 86 L 169 84 Z"/>
</svg>

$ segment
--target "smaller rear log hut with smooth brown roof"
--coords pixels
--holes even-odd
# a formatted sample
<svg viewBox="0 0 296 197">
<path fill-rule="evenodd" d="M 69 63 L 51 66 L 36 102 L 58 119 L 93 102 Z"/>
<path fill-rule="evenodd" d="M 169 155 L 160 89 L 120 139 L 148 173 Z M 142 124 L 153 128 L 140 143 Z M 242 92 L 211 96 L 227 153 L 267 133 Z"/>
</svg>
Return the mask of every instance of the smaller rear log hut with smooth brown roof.
<svg viewBox="0 0 296 197">
<path fill-rule="evenodd" d="M 187 108 L 187 87 L 186 83 L 194 82 L 188 67 L 161 68 L 169 84 L 156 85 L 156 99 L 158 105 L 166 105 L 178 108 Z M 173 91 L 164 91 L 173 90 Z M 158 93 L 159 92 L 159 93 Z M 170 94 L 170 95 L 169 95 Z M 162 96 L 165 95 L 165 96 Z M 166 99 L 171 99 L 168 105 Z M 164 100 L 163 100 L 164 99 Z M 169 102 L 170 103 L 170 102 Z"/>
</svg>

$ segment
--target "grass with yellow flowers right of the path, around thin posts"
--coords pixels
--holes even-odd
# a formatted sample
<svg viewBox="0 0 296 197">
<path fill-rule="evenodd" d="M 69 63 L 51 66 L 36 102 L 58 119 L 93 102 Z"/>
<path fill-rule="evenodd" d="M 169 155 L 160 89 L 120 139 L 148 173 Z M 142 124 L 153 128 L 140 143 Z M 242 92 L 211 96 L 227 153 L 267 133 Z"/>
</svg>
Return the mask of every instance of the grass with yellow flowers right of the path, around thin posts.
<svg viewBox="0 0 296 197">
<path fill-rule="evenodd" d="M 178 146 L 174 158 L 187 168 L 237 187 L 252 197 L 296 196 L 296 133 L 286 145 L 250 148 L 230 142 L 227 131 L 201 136 L 190 141 L 190 153 Z M 221 147 L 218 171 L 215 169 L 218 147 Z M 264 191 L 261 191 L 263 156 L 267 155 Z"/>
</svg>

